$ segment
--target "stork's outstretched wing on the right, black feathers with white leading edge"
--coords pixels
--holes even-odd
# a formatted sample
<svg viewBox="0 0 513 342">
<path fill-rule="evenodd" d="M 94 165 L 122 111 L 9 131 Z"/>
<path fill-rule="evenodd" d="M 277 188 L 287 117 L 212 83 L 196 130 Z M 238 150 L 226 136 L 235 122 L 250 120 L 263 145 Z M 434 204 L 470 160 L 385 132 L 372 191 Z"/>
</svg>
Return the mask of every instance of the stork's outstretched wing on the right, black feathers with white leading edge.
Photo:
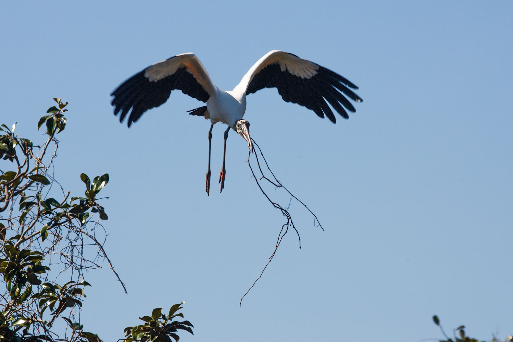
<svg viewBox="0 0 513 342">
<path fill-rule="evenodd" d="M 362 102 L 349 89 L 358 87 L 346 78 L 306 59 L 277 50 L 260 58 L 237 87 L 246 87 L 246 95 L 262 88 L 277 88 L 286 102 L 305 106 L 320 117 L 326 115 L 332 123 L 336 122 L 336 118 L 328 103 L 347 119 L 349 116 L 344 107 L 351 112 L 356 109 L 344 95 Z"/>
</svg>

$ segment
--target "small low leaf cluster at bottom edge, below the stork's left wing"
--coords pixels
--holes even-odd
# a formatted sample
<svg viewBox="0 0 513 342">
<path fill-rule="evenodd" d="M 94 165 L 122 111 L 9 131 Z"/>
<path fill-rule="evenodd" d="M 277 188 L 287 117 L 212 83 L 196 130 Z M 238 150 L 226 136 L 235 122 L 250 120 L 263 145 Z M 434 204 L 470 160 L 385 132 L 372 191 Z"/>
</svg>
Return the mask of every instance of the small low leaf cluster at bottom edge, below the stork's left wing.
<svg viewBox="0 0 513 342">
<path fill-rule="evenodd" d="M 182 309 L 181 305 L 185 302 L 182 301 L 180 304 L 175 304 L 169 309 L 169 314 L 165 315 L 162 313 L 162 308 L 153 309 L 150 316 L 139 317 L 139 319 L 145 321 L 145 324 L 136 327 L 125 328 L 125 339 L 124 342 L 147 342 L 147 341 L 159 341 L 159 342 L 171 342 L 171 337 L 178 342 L 180 336 L 176 332 L 181 329 L 192 332 L 192 324 L 188 320 L 184 321 L 173 321 L 175 317 L 182 317 L 184 315 L 176 313 L 176 311 Z"/>
</svg>

